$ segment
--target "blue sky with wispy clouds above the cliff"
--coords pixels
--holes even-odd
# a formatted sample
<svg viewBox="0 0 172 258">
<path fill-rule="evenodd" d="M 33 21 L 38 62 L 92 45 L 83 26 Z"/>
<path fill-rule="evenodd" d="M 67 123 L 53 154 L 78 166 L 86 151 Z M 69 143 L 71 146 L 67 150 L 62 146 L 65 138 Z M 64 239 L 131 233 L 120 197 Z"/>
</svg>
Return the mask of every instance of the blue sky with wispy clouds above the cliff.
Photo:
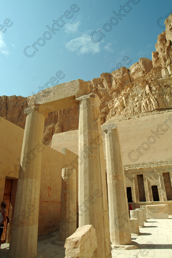
<svg viewBox="0 0 172 258">
<path fill-rule="evenodd" d="M 47 82 L 49 87 L 57 84 L 58 71 L 63 72 L 57 74 L 63 77 L 58 79 L 58 84 L 77 79 L 87 81 L 99 77 L 102 72 L 109 72 L 125 56 L 131 59 L 130 65 L 125 65 L 127 68 L 138 62 L 140 57 L 151 59 L 158 34 L 165 30 L 161 28 L 164 26 L 165 16 L 172 12 L 171 0 L 131 0 L 128 4 L 130 8 L 126 5 L 127 2 L 128 0 L 1 2 L 0 25 L 4 25 L 6 19 L 10 19 L 13 24 L 6 20 L 7 26 L 0 26 L 1 32 L 5 31 L 0 33 L 0 96 L 33 95 L 32 92 L 37 93 L 39 87 L 45 87 Z M 126 12 L 120 7 L 124 5 Z M 125 16 L 118 17 L 119 9 L 120 14 Z M 112 17 L 115 18 L 111 19 Z M 158 26 L 157 20 L 160 17 Z M 117 24 L 111 25 L 110 20 Z M 106 25 L 107 23 L 110 25 Z M 47 25 L 50 29 L 54 26 L 54 29 L 59 30 L 53 30 L 54 34 Z M 98 32 L 101 28 L 104 36 Z M 46 31 L 49 33 L 45 33 Z M 90 36 L 95 31 L 97 33 L 92 38 L 99 41 L 102 37 L 99 43 L 91 40 Z M 43 35 L 51 38 L 45 39 Z M 26 54 L 34 54 L 32 57 L 24 53 L 27 46 L 30 48 L 25 50 Z M 54 78 L 51 79 L 52 77 Z"/>
</svg>

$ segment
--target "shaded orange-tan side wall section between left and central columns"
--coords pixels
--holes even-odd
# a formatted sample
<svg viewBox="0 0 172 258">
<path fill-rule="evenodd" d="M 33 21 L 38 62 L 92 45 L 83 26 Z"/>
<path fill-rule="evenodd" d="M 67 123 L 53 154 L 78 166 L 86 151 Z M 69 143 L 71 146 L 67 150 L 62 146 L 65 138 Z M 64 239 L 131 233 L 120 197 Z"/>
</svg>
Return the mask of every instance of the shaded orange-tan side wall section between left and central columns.
<svg viewBox="0 0 172 258">
<path fill-rule="evenodd" d="M 38 235 L 59 229 L 61 206 L 61 170 L 77 157 L 65 149 L 65 154 L 45 147 L 42 153 L 41 186 L 39 200 Z M 67 167 L 67 166 L 66 166 Z M 78 168 L 76 166 L 76 179 L 78 181 Z M 78 193 L 78 187 L 77 187 Z M 78 199 L 78 195 L 76 196 Z"/>
</svg>

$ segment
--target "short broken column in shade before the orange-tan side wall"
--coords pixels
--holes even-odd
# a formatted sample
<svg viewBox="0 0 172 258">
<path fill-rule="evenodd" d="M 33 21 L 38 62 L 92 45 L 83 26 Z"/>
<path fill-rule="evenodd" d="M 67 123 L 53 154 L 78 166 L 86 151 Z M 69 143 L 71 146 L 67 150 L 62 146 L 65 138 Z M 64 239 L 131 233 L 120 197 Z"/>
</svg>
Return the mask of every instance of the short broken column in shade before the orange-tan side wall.
<svg viewBox="0 0 172 258">
<path fill-rule="evenodd" d="M 61 174 L 61 207 L 59 240 L 65 241 L 76 231 L 76 218 L 70 212 L 76 211 L 76 170 L 63 168 Z"/>
</svg>

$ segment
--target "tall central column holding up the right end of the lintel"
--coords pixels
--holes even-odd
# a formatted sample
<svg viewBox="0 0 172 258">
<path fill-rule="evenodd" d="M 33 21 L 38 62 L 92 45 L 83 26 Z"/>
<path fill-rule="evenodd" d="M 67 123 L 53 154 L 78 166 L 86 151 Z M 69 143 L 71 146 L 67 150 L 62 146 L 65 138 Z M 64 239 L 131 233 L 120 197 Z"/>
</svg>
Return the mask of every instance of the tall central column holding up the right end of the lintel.
<svg viewBox="0 0 172 258">
<path fill-rule="evenodd" d="M 79 102 L 78 202 L 79 227 L 96 229 L 98 258 L 111 257 L 108 201 L 103 138 L 100 126 L 100 99 L 94 93 Z"/>
</svg>

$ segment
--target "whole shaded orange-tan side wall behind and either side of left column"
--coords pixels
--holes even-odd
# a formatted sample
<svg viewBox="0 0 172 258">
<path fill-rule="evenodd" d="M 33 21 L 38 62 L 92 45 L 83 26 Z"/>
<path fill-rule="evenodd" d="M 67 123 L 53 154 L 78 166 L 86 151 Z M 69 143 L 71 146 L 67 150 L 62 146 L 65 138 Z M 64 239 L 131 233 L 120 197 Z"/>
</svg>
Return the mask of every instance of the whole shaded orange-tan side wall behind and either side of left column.
<svg viewBox="0 0 172 258">
<path fill-rule="evenodd" d="M 0 118 L 0 202 L 3 200 L 5 177 L 10 171 L 15 171 L 14 167 L 19 164 L 18 158 L 21 157 L 22 141 L 24 129 Z M 40 205 L 38 235 L 44 235 L 50 231 L 56 230 L 60 223 L 60 205 L 61 205 L 61 170 L 66 164 L 75 160 L 76 154 L 67 149 L 63 153 L 55 151 L 44 146 L 42 151 L 41 165 L 41 187 L 40 187 Z M 76 180 L 78 182 L 78 167 L 76 166 Z M 4 180 L 3 180 L 4 178 Z M 13 219 L 15 196 L 17 189 L 18 173 L 16 173 L 15 183 L 12 184 L 12 197 L 10 202 L 9 218 Z M 14 181 L 13 180 L 13 181 Z M 78 187 L 77 187 L 78 193 Z M 78 199 L 78 195 L 76 196 Z"/>
</svg>

